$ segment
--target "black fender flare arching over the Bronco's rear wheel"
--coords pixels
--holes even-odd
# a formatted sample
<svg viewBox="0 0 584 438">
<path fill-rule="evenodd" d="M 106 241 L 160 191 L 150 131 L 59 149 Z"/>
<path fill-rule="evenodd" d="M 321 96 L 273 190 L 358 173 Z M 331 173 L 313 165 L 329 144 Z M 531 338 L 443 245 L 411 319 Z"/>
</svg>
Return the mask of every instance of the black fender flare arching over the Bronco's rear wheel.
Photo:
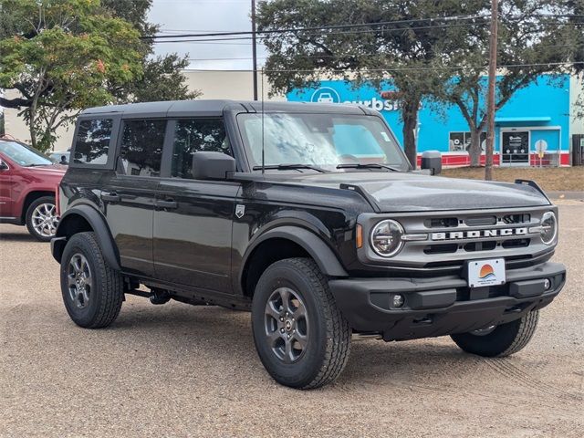
<svg viewBox="0 0 584 438">
<path fill-rule="evenodd" d="M 98 239 L 101 254 L 108 265 L 116 270 L 120 270 L 120 253 L 118 252 L 118 247 L 111 236 L 110 227 L 98 210 L 86 204 L 76 205 L 69 208 L 59 219 L 57 234 L 51 241 L 51 252 L 55 260 L 59 263 L 61 261 L 61 255 L 67 244 L 67 239 L 70 236 L 68 233 L 68 224 L 70 224 L 71 218 L 75 215 L 81 216 L 85 219 L 93 229 L 93 232 Z"/>
</svg>

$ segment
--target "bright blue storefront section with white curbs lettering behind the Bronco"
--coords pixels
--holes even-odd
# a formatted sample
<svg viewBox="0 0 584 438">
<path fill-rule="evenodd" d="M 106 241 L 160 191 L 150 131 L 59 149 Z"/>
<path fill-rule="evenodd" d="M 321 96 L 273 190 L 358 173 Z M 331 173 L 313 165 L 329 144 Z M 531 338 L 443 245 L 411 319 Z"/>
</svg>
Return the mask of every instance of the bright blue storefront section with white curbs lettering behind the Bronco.
<svg viewBox="0 0 584 438">
<path fill-rule="evenodd" d="M 390 89 L 387 83 L 383 89 Z M 568 75 L 545 75 L 520 89 L 495 116 L 495 164 L 501 166 L 569 165 L 571 139 L 584 134 L 578 104 L 582 83 Z M 379 110 L 402 140 L 399 102 L 382 99 L 370 86 L 355 88 L 343 80 L 326 80 L 311 89 L 295 89 L 288 100 L 360 103 Z M 581 97 L 580 97 L 581 99 Z M 483 133 L 483 143 L 485 140 Z M 454 105 L 422 102 L 417 130 L 418 152 L 440 151 L 443 164 L 470 163 L 468 124 Z M 538 152 L 542 152 L 539 154 Z"/>
</svg>

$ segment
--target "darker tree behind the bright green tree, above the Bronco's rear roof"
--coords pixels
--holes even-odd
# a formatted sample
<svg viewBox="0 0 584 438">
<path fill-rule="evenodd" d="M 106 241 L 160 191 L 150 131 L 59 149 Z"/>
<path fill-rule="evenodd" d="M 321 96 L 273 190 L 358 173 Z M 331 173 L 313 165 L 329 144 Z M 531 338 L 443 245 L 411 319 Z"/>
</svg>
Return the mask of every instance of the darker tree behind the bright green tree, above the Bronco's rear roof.
<svg viewBox="0 0 584 438">
<path fill-rule="evenodd" d="M 123 18 L 140 31 L 141 36 L 154 36 L 159 26 L 148 22 L 147 15 L 152 0 L 102 0 L 114 16 Z M 162 57 L 152 57 L 151 38 L 141 39 L 141 77 L 110 86 L 111 93 L 119 103 L 148 102 L 156 100 L 195 99 L 201 95 L 198 90 L 189 90 L 181 71 L 189 65 L 188 56 L 179 57 L 172 53 Z"/>
</svg>

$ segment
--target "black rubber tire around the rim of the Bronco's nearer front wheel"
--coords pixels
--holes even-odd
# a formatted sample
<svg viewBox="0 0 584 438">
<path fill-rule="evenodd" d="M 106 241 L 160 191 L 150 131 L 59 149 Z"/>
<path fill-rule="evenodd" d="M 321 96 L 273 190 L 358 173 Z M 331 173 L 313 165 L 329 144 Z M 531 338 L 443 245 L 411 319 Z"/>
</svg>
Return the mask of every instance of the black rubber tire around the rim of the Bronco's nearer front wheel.
<svg viewBox="0 0 584 438">
<path fill-rule="evenodd" d="M 308 315 L 307 348 L 293 363 L 278 359 L 266 340 L 266 303 L 278 287 L 289 287 L 301 297 Z M 292 388 L 313 389 L 334 381 L 349 359 L 351 329 L 326 277 L 309 258 L 288 258 L 266 268 L 255 287 L 252 328 L 264 367 L 277 382 Z"/>
</svg>

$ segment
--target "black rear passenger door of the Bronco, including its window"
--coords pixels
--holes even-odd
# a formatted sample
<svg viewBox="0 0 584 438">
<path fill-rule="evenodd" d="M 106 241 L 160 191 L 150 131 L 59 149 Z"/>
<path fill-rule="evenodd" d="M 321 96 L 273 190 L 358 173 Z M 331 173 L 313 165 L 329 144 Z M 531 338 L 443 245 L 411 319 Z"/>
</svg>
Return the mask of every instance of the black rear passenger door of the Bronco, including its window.
<svg viewBox="0 0 584 438">
<path fill-rule="evenodd" d="M 122 120 L 114 175 L 101 192 L 125 272 L 153 276 L 152 220 L 167 121 Z"/>
</svg>

